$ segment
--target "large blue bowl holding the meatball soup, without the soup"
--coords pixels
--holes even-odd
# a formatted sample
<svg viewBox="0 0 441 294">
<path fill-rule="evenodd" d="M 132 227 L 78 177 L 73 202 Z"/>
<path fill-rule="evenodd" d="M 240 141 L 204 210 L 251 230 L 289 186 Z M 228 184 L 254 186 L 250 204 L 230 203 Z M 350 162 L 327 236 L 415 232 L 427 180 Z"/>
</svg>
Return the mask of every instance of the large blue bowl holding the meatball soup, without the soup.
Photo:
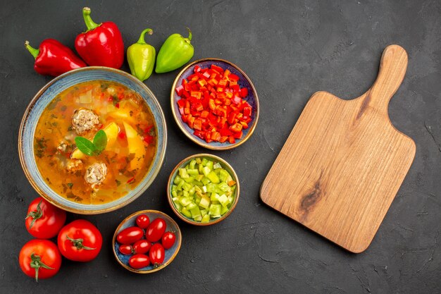
<svg viewBox="0 0 441 294">
<path fill-rule="evenodd" d="M 118 82 L 125 85 L 130 90 L 137 92 L 147 102 L 147 106 L 151 110 L 156 123 L 156 130 L 158 135 L 156 154 L 153 162 L 147 171 L 146 176 L 142 181 L 135 186 L 127 195 L 120 197 L 118 200 L 108 202 L 105 204 L 80 204 L 67 200 L 61 195 L 58 195 L 52 190 L 46 181 L 39 173 L 34 156 L 34 135 L 35 128 L 42 112 L 48 104 L 68 87 L 77 85 L 81 82 L 89 82 L 93 80 L 104 80 L 110 82 Z M 54 78 L 46 84 L 42 90 L 35 95 L 25 111 L 20 125 L 20 133 L 18 135 L 18 153 L 20 155 L 21 166 L 27 179 L 39 195 L 44 197 L 52 204 L 65 209 L 69 212 L 77 214 L 101 214 L 104 212 L 111 212 L 115 209 L 123 207 L 133 200 L 137 199 L 142 193 L 149 188 L 161 169 L 164 156 L 166 154 L 167 145 L 167 128 L 166 120 L 163 115 L 161 106 L 154 96 L 153 92 L 144 85 L 144 83 L 137 80 L 132 75 L 114 68 L 106 68 L 101 66 L 90 66 L 86 68 L 79 68 L 74 71 L 69 71 L 63 75 Z"/>
</svg>

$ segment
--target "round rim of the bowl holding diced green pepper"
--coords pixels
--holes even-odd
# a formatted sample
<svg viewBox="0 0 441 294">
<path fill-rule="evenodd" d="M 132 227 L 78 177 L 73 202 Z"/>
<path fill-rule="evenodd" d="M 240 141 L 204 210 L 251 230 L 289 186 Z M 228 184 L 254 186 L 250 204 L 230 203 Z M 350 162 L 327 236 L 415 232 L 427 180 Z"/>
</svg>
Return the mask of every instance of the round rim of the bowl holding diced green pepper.
<svg viewBox="0 0 441 294">
<path fill-rule="evenodd" d="M 217 159 L 218 161 L 221 162 L 221 164 L 224 164 L 225 166 L 228 167 L 228 169 L 231 170 L 232 176 L 236 180 L 236 196 L 235 196 L 235 201 L 231 204 L 230 209 L 223 216 L 221 216 L 218 219 L 215 219 L 213 221 L 209 221 L 208 223 L 201 223 L 199 221 L 191 221 L 190 219 L 187 219 L 180 212 L 178 212 L 178 209 L 176 209 L 175 204 L 171 200 L 170 183 L 171 183 L 172 178 L 174 178 L 175 174 L 177 173 L 179 167 L 182 164 L 185 164 L 187 161 L 190 161 L 191 159 L 194 159 L 196 157 L 210 157 L 210 158 L 213 158 L 213 159 Z M 237 202 L 239 201 L 239 195 L 240 195 L 240 183 L 239 183 L 239 178 L 237 177 L 237 173 L 236 173 L 235 169 L 233 169 L 232 166 L 230 164 L 228 164 L 228 162 L 225 159 L 222 159 L 221 157 L 218 157 L 218 156 L 213 155 L 213 154 L 198 153 L 198 154 L 190 155 L 190 157 L 186 157 L 185 159 L 182 159 L 179 162 L 179 164 L 177 164 L 175 166 L 175 168 L 173 169 L 173 171 L 170 173 L 170 176 L 168 176 L 168 182 L 167 182 L 167 200 L 168 200 L 168 204 L 170 204 L 170 207 L 173 210 L 173 212 L 175 212 L 175 214 L 180 219 L 182 219 L 182 221 L 185 221 L 186 223 L 190 223 L 190 224 L 192 224 L 194 226 L 211 226 L 211 225 L 213 225 L 215 223 L 219 223 L 219 222 L 223 221 L 224 219 L 226 219 L 228 216 L 230 216 L 232 211 L 235 210 Z"/>
</svg>

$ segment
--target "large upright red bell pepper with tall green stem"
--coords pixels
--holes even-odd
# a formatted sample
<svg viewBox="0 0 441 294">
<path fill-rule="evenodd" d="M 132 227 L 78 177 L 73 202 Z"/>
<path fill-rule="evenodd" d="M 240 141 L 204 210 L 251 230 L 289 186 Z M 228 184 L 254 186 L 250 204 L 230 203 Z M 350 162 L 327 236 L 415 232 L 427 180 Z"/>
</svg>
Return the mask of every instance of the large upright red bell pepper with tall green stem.
<svg viewBox="0 0 441 294">
<path fill-rule="evenodd" d="M 120 68 L 124 62 L 124 43 L 115 23 L 94 23 L 90 8 L 82 8 L 87 31 L 77 35 L 75 49 L 89 66 Z"/>
</svg>

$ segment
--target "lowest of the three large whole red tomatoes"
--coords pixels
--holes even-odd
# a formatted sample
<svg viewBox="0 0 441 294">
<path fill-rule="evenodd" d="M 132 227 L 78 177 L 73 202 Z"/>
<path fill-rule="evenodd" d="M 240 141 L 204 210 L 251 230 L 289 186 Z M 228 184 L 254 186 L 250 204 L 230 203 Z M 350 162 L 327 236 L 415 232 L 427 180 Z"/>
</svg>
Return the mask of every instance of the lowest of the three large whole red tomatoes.
<svg viewBox="0 0 441 294">
<path fill-rule="evenodd" d="M 34 239 L 21 248 L 18 263 L 27 276 L 38 281 L 39 278 L 50 278 L 58 273 L 61 255 L 53 242 Z"/>
</svg>

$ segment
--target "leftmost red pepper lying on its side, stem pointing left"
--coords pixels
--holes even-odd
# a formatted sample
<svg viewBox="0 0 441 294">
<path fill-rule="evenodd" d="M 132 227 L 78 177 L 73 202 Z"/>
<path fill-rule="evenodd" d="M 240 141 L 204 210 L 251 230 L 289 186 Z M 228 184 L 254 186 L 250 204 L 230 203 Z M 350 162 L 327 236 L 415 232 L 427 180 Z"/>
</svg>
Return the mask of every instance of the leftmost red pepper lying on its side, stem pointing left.
<svg viewBox="0 0 441 294">
<path fill-rule="evenodd" d="M 61 75 L 75 68 L 84 68 L 84 63 L 68 47 L 56 39 L 45 39 L 39 49 L 32 48 L 28 41 L 25 47 L 34 56 L 34 69 L 41 75 Z"/>
</svg>

